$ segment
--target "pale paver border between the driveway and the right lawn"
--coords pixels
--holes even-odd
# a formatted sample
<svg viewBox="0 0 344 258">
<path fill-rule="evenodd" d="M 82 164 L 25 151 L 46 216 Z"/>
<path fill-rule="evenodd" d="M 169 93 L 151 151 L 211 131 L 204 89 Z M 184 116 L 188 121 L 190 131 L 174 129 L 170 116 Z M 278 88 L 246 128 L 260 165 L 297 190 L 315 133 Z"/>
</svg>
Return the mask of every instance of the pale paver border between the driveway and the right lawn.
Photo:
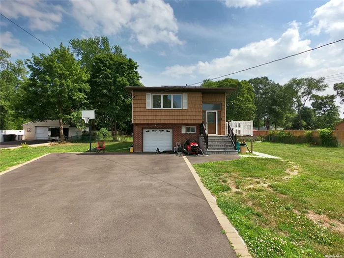
<svg viewBox="0 0 344 258">
<path fill-rule="evenodd" d="M 194 167 L 191 165 L 190 161 L 187 157 L 183 156 L 183 159 L 186 163 L 186 165 L 189 167 L 189 170 L 191 171 L 192 175 L 194 176 L 197 184 L 201 188 L 201 191 L 206 199 L 208 201 L 209 206 L 213 210 L 217 220 L 219 221 L 222 229 L 226 231 L 226 236 L 233 246 L 233 249 L 237 256 L 240 256 L 241 258 L 252 258 L 247 246 L 245 245 L 244 240 L 240 237 L 239 233 L 234 229 L 234 227 L 230 224 L 228 218 L 222 213 L 221 209 L 217 206 L 216 199 L 214 196 L 211 195 L 208 189 L 205 188 L 203 183 L 201 182 L 200 176 L 195 171 Z"/>
</svg>

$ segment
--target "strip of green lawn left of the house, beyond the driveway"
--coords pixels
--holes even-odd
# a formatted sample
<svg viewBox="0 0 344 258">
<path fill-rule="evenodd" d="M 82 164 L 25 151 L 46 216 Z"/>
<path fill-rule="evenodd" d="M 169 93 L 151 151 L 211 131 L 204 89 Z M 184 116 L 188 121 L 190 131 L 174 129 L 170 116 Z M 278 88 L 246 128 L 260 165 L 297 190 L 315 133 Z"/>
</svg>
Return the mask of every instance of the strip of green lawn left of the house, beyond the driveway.
<svg viewBox="0 0 344 258">
<path fill-rule="evenodd" d="M 126 138 L 127 142 L 106 142 L 106 152 L 129 151 L 128 148 L 133 144 L 133 138 Z M 92 143 L 95 147 L 97 143 Z M 85 152 L 89 148 L 89 143 L 65 143 L 52 146 L 28 147 L 17 149 L 0 150 L 0 172 L 9 167 L 29 161 L 47 153 L 52 152 Z"/>
</svg>

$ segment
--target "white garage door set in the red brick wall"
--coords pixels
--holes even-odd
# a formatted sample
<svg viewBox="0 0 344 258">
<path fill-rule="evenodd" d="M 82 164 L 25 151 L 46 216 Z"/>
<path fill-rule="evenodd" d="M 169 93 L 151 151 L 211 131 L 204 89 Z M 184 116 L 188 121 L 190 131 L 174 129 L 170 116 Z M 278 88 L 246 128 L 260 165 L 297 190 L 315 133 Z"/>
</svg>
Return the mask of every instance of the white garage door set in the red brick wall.
<svg viewBox="0 0 344 258">
<path fill-rule="evenodd" d="M 172 150 L 172 129 L 143 129 L 143 151 Z"/>
</svg>

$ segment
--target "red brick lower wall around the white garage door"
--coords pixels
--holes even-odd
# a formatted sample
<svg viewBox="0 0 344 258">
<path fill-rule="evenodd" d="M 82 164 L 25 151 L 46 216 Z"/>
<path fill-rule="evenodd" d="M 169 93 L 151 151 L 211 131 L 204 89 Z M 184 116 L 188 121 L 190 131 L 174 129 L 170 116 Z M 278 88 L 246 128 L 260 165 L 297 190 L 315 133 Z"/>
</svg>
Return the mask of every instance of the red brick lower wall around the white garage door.
<svg viewBox="0 0 344 258">
<path fill-rule="evenodd" d="M 182 134 L 181 127 L 186 126 L 196 126 L 195 134 Z M 181 143 L 186 139 L 195 139 L 198 142 L 200 135 L 200 124 L 134 124 L 134 152 L 141 152 L 143 150 L 143 128 L 172 128 L 173 132 L 173 147 L 175 143 Z"/>
</svg>

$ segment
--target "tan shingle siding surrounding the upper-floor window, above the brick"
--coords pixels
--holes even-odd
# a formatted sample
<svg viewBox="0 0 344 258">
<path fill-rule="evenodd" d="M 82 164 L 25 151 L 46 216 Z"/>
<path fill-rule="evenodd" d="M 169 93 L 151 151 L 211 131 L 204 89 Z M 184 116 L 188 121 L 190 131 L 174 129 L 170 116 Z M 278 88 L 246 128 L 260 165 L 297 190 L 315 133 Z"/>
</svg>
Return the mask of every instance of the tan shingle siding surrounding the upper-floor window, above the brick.
<svg viewBox="0 0 344 258">
<path fill-rule="evenodd" d="M 202 122 L 201 92 L 187 92 L 187 109 L 147 109 L 146 93 L 160 94 L 157 92 L 133 91 L 133 123 L 200 124 Z M 186 92 L 173 92 L 173 94 L 183 93 Z M 165 94 L 168 94 L 168 92 Z"/>
</svg>

